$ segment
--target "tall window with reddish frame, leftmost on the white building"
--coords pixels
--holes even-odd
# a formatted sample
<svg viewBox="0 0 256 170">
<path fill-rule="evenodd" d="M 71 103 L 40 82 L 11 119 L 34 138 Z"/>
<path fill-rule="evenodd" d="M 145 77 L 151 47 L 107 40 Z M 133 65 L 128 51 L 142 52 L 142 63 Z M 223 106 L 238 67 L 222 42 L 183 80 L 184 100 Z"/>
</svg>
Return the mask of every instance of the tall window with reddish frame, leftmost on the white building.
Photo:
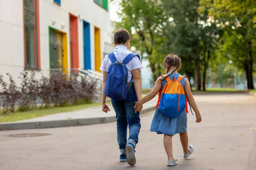
<svg viewBox="0 0 256 170">
<path fill-rule="evenodd" d="M 38 69 L 37 1 L 24 0 L 25 68 Z"/>
</svg>

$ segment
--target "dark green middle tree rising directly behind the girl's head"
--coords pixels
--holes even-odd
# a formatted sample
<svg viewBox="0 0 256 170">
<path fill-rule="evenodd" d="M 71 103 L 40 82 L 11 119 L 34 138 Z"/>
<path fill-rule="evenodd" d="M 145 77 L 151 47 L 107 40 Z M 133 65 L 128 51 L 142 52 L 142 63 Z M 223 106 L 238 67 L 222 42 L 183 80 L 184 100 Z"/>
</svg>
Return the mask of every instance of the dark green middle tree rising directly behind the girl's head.
<svg viewBox="0 0 256 170">
<path fill-rule="evenodd" d="M 210 25 L 206 25 L 207 13 L 197 12 L 199 0 L 163 0 L 163 7 L 169 14 L 165 31 L 166 48 L 181 57 L 181 72 L 186 73 L 188 79 L 194 77 L 198 91 L 201 88 L 201 67 L 207 69 L 212 50 L 213 36 Z M 203 76 L 203 82 L 205 79 L 206 76 Z"/>
</svg>

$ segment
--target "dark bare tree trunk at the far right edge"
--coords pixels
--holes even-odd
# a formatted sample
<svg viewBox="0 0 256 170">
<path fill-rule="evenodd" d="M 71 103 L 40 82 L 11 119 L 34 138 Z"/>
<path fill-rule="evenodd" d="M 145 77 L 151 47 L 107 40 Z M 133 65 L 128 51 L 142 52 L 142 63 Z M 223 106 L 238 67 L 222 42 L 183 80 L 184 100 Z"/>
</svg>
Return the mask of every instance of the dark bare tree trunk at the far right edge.
<svg viewBox="0 0 256 170">
<path fill-rule="evenodd" d="M 251 40 L 248 41 L 248 58 L 245 61 L 245 73 L 246 73 L 246 79 L 247 79 L 247 88 L 248 89 L 254 89 L 254 83 L 253 83 L 253 59 L 252 59 L 252 49 L 251 49 Z"/>
</svg>

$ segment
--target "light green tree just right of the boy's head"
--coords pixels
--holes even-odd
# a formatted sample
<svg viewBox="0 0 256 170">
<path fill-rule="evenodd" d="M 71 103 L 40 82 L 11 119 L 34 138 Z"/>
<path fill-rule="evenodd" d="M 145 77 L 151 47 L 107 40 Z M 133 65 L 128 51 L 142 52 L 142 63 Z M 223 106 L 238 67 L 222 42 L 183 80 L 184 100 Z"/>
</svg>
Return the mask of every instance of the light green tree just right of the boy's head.
<svg viewBox="0 0 256 170">
<path fill-rule="evenodd" d="M 122 21 L 117 22 L 116 27 L 130 31 L 132 45 L 142 53 L 147 53 L 155 81 L 165 56 L 163 27 L 166 25 L 167 16 L 163 12 L 161 1 L 121 0 L 120 10 L 118 15 Z"/>
</svg>

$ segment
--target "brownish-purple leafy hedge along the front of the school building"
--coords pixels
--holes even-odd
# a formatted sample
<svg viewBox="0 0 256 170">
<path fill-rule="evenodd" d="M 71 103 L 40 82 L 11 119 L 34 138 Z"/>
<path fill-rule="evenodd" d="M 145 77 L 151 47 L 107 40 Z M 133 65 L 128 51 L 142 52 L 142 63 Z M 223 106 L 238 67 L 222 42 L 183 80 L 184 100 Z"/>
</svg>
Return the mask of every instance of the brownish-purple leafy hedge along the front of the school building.
<svg viewBox="0 0 256 170">
<path fill-rule="evenodd" d="M 69 106 L 91 103 L 96 94 L 96 81 L 90 77 L 78 77 L 78 73 L 67 75 L 59 72 L 50 73 L 50 78 L 42 76 L 35 79 L 35 73 L 20 73 L 21 84 L 16 83 L 8 73 L 9 82 L 0 75 L 0 103 L 4 114 L 27 111 L 38 107 Z M 79 79 L 79 80 L 78 80 Z"/>
</svg>

